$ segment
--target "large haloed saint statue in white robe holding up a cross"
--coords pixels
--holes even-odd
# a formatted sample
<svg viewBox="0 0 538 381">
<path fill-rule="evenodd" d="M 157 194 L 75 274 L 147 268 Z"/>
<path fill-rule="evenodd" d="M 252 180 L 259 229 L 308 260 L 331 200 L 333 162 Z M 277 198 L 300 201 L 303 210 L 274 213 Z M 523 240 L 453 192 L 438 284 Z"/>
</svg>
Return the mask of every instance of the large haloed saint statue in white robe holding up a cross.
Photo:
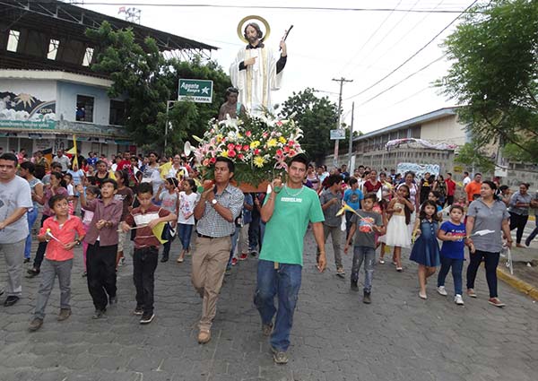
<svg viewBox="0 0 538 381">
<path fill-rule="evenodd" d="M 265 27 L 267 31 L 268 25 L 265 24 Z M 247 23 L 243 37 L 248 45 L 239 50 L 230 66 L 231 83 L 239 89 L 239 102 L 249 113 L 259 115 L 264 108 L 273 107 L 271 92 L 281 87 L 288 51 L 284 39 L 280 42 L 280 55 L 266 47 L 264 32 L 256 22 Z"/>
</svg>

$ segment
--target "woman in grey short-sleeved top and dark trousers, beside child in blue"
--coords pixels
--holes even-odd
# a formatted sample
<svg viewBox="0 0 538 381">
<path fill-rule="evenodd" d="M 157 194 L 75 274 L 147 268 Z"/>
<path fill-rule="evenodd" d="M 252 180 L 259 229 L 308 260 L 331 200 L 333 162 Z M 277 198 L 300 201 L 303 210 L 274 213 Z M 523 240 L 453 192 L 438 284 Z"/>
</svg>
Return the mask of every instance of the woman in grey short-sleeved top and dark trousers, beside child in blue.
<svg viewBox="0 0 538 381">
<path fill-rule="evenodd" d="M 467 211 L 467 238 L 469 244 L 474 245 L 474 253 L 469 257 L 467 266 L 467 295 L 476 298 L 474 292 L 474 279 L 478 268 L 484 261 L 486 267 L 486 280 L 490 288 L 491 305 L 504 307 L 497 294 L 497 265 L 499 264 L 499 254 L 502 248 L 501 230 L 508 237 L 507 245 L 512 245 L 510 238 L 509 217 L 507 206 L 502 201 L 494 197 L 497 186 L 492 181 L 483 181 L 480 188 L 481 197 L 469 205 Z M 483 236 L 473 234 L 479 230 L 493 230 L 493 233 Z"/>
</svg>

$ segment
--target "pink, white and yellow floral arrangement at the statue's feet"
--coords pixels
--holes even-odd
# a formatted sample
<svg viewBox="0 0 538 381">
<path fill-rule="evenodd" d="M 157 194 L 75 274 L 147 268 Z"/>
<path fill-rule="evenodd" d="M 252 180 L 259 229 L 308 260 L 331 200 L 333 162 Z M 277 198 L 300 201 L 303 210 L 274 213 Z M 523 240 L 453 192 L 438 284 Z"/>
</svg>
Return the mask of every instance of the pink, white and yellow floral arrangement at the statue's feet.
<svg viewBox="0 0 538 381">
<path fill-rule="evenodd" d="M 299 144 L 302 136 L 292 118 L 212 119 L 202 138 L 193 136 L 199 143 L 195 158 L 204 178 L 213 177 L 216 159 L 224 156 L 235 163 L 235 181 L 257 186 L 273 178 L 275 171 L 287 169 L 286 160 L 303 152 Z"/>
</svg>

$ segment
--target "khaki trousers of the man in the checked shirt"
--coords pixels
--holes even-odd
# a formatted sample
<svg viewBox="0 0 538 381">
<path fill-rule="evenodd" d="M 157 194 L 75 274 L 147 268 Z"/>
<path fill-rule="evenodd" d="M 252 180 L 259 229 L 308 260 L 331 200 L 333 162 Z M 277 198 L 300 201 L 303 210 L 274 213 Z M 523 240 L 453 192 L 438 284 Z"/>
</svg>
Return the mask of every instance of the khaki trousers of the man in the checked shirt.
<svg viewBox="0 0 538 381">
<path fill-rule="evenodd" d="M 195 290 L 204 299 L 200 330 L 209 331 L 217 313 L 217 299 L 230 258 L 231 238 L 201 238 L 195 241 L 191 280 Z"/>
</svg>

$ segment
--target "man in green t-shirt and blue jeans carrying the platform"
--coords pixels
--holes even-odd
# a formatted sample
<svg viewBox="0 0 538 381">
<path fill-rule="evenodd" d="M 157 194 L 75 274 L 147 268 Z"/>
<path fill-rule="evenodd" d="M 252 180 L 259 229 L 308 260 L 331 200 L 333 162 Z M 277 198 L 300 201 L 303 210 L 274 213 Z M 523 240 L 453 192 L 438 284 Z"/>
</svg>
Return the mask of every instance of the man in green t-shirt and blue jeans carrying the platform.
<svg viewBox="0 0 538 381">
<path fill-rule="evenodd" d="M 308 222 L 312 222 L 319 247 L 317 268 L 320 273 L 326 264 L 321 204 L 316 192 L 303 186 L 307 165 L 305 155 L 294 156 L 288 167 L 287 183 L 282 186 L 280 179 L 273 180 L 273 192 L 265 197 L 260 211 L 266 226 L 254 301 L 262 317 L 262 332 L 271 334 L 271 350 L 277 364 L 288 362 L 286 351 L 290 346 L 293 312 L 299 296 L 303 241 Z M 274 307 L 277 293 L 278 309 Z"/>
</svg>

